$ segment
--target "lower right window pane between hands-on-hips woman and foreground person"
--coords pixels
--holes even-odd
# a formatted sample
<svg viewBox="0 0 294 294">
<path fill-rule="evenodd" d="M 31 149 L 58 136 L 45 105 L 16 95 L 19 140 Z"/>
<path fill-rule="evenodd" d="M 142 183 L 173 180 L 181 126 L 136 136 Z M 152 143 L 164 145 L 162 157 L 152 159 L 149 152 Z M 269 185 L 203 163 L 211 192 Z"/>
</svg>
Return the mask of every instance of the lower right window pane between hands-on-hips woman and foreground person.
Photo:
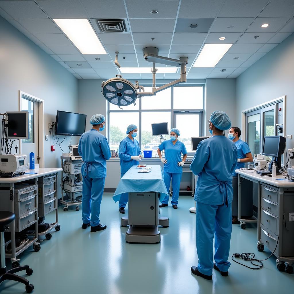
<svg viewBox="0 0 294 294">
<path fill-rule="evenodd" d="M 179 141 L 185 144 L 187 152 L 192 152 L 191 137 L 199 137 L 199 119 L 199 114 L 176 115 L 176 128 L 181 134 L 181 136 L 179 136 Z"/>
</svg>

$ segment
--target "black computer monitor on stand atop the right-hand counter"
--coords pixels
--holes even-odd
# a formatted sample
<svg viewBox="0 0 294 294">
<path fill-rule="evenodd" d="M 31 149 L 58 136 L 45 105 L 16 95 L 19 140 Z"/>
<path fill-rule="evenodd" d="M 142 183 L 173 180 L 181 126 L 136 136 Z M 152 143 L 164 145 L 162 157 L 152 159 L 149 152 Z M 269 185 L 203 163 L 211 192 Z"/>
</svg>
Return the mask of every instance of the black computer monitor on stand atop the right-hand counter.
<svg viewBox="0 0 294 294">
<path fill-rule="evenodd" d="M 273 163 L 277 168 L 281 168 L 281 157 L 285 151 L 286 138 L 282 136 L 266 136 L 263 138 L 262 155 L 273 156 L 272 161 L 268 167 L 272 171 Z"/>
</svg>

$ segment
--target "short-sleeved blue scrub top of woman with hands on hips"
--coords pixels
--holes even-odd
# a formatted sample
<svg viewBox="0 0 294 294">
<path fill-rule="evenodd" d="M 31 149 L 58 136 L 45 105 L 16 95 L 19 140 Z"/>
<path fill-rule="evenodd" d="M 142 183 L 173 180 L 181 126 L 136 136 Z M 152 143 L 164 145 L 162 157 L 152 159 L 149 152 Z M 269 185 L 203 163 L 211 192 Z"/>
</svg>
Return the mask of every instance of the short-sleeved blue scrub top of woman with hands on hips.
<svg viewBox="0 0 294 294">
<path fill-rule="evenodd" d="M 173 141 L 165 140 L 159 146 L 159 150 L 164 150 L 165 159 L 167 163 L 163 167 L 163 172 L 167 173 L 182 173 L 183 167 L 178 166 L 178 162 L 182 161 L 182 154 L 187 154 L 186 147 L 183 142 L 177 141 L 175 145 L 173 145 Z"/>
</svg>

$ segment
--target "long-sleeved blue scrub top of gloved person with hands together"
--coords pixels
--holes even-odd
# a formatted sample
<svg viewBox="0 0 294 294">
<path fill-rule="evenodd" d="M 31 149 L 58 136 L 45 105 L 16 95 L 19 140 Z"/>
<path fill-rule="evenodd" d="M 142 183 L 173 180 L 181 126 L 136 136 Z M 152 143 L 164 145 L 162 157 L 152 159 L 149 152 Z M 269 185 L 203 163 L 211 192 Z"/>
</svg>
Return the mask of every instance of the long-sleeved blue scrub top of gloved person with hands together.
<svg viewBox="0 0 294 294">
<path fill-rule="evenodd" d="M 139 147 L 139 142 L 134 139 L 132 141 L 129 137 L 124 138 L 119 144 L 118 156 L 121 163 L 121 173 L 126 173 L 131 166 L 138 165 L 139 161 L 131 160 L 131 156 L 142 155 Z"/>
</svg>

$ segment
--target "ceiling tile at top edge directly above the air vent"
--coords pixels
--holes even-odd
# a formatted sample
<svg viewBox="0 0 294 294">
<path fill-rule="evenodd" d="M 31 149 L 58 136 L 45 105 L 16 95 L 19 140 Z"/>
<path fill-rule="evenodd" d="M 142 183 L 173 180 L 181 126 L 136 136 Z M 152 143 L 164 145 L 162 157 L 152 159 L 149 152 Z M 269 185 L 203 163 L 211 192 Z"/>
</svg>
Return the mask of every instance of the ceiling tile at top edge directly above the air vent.
<svg viewBox="0 0 294 294">
<path fill-rule="evenodd" d="M 90 18 L 126 18 L 126 9 L 122 0 L 83 0 L 81 1 Z"/>
</svg>

